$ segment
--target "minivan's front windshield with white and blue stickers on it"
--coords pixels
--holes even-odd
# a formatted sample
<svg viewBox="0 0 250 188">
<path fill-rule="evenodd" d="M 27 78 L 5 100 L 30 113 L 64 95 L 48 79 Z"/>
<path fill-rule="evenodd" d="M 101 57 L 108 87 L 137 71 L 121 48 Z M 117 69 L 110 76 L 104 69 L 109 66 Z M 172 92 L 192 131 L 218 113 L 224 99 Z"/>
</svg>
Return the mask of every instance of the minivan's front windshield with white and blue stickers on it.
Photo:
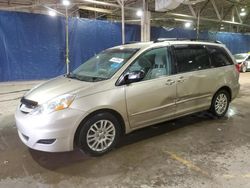
<svg viewBox="0 0 250 188">
<path fill-rule="evenodd" d="M 138 49 L 109 49 L 92 57 L 69 75 L 87 82 L 111 78 Z"/>
</svg>

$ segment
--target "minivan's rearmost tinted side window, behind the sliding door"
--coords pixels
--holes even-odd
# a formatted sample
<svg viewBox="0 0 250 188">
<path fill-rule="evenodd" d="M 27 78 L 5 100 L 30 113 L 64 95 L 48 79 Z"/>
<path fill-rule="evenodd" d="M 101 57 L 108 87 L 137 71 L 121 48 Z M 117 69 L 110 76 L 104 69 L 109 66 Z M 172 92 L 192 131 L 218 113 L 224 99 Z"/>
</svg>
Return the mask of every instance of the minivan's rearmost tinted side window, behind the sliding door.
<svg viewBox="0 0 250 188">
<path fill-rule="evenodd" d="M 207 46 L 207 49 L 211 57 L 212 67 L 223 67 L 233 64 L 231 57 L 222 47 Z"/>
</svg>

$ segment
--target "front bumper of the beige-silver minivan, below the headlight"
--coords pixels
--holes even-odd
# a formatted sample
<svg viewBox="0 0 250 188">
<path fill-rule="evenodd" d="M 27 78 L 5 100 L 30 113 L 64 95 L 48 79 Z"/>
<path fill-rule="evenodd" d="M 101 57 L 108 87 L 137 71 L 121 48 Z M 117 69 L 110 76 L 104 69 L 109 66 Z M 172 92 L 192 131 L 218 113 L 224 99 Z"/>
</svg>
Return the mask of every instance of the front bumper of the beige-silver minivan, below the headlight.
<svg viewBox="0 0 250 188">
<path fill-rule="evenodd" d="M 18 135 L 29 148 L 63 152 L 74 148 L 75 131 L 81 121 L 82 111 L 65 109 L 45 115 L 24 114 L 16 110 Z"/>
</svg>

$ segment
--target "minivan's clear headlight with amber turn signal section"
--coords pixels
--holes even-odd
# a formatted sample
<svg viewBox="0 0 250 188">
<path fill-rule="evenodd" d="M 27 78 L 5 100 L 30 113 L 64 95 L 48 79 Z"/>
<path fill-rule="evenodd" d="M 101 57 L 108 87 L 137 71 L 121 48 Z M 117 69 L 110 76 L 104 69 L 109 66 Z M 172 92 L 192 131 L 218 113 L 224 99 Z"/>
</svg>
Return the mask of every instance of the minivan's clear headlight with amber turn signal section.
<svg viewBox="0 0 250 188">
<path fill-rule="evenodd" d="M 36 109 L 34 109 L 30 114 L 36 115 L 36 114 L 49 114 L 51 112 L 59 111 L 68 108 L 71 103 L 74 101 L 75 96 L 66 94 L 61 95 L 59 97 L 56 97 L 50 101 L 48 101 L 45 104 L 42 104 L 38 106 Z"/>
</svg>

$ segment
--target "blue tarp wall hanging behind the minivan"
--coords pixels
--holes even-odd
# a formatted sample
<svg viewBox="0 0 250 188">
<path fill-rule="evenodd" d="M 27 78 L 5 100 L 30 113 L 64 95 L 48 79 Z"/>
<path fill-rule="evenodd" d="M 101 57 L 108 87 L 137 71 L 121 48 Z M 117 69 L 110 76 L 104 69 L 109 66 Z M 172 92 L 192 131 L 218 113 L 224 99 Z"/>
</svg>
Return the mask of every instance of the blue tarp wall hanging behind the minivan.
<svg viewBox="0 0 250 188">
<path fill-rule="evenodd" d="M 121 44 L 121 24 L 70 19 L 70 69 L 103 49 Z M 151 28 L 151 39 L 196 38 L 179 28 Z M 202 32 L 202 39 L 220 40 L 232 53 L 250 51 L 250 36 Z M 126 25 L 126 41 L 140 40 L 140 26 Z M 65 73 L 65 19 L 39 14 L 0 12 L 0 81 L 46 79 Z"/>
</svg>

